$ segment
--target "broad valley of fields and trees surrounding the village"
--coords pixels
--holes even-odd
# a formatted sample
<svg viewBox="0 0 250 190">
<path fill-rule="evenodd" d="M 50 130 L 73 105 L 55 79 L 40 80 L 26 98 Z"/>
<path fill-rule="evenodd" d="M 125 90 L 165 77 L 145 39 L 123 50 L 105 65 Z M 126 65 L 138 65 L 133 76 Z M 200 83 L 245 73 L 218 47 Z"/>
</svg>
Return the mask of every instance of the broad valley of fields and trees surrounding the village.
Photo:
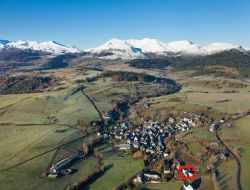
<svg viewBox="0 0 250 190">
<path fill-rule="evenodd" d="M 69 60 L 70 66 L 65 68 L 40 71 L 34 67 L 32 73 L 19 66 L 7 78 L 13 84 L 2 80 L 2 89 L 7 84 L 13 89 L 0 95 L 0 145 L 3 147 L 0 182 L 4 189 L 183 187 L 175 166 L 170 167 L 169 174 L 164 174 L 163 161 L 195 165 L 199 173 L 190 184 L 197 183 L 199 189 L 237 189 L 239 183 L 243 189 L 249 187 L 245 179 L 250 146 L 247 80 L 194 76 L 190 69 L 134 68 L 123 60 L 79 57 Z M 35 88 L 28 86 L 30 82 L 23 83 L 29 77 L 44 74 L 55 82 L 44 85 L 38 81 L 33 84 Z M 172 124 L 170 118 L 175 120 Z M 122 123 L 136 130 L 151 120 L 163 126 L 178 126 L 182 122 L 184 125 L 185 118 L 196 124 L 162 141 L 168 156 L 160 156 L 159 160 L 155 160 L 155 152 L 140 153 L 137 148 L 117 150 L 116 146 L 126 144 L 125 137 L 105 137 Z M 212 124 L 222 119 L 219 128 L 213 130 Z M 46 174 L 52 164 L 79 154 L 85 145 L 89 146 L 89 152 L 70 167 L 72 174 L 55 179 L 46 177 L 53 176 Z M 240 181 L 237 180 L 239 166 L 225 146 L 237 155 L 242 168 Z M 148 172 L 161 176 L 157 184 L 150 180 L 134 182 Z"/>
</svg>

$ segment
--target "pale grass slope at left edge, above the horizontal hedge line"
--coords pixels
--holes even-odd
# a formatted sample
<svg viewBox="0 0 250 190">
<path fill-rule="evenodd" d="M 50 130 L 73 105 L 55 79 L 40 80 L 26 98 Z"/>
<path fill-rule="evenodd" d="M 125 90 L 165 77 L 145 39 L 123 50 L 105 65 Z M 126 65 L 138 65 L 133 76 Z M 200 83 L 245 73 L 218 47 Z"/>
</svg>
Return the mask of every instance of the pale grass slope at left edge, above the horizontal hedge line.
<svg viewBox="0 0 250 190">
<path fill-rule="evenodd" d="M 1 123 L 47 124 L 48 117 L 55 117 L 57 123 L 75 125 L 77 120 L 95 120 L 99 116 L 81 91 L 71 95 L 74 89 L 50 93 L 37 93 L 16 103 L 15 95 L 7 95 L 9 105 L 0 112 Z M 0 103 L 2 105 L 2 103 Z M 6 106 L 6 104 L 5 104 Z"/>
</svg>

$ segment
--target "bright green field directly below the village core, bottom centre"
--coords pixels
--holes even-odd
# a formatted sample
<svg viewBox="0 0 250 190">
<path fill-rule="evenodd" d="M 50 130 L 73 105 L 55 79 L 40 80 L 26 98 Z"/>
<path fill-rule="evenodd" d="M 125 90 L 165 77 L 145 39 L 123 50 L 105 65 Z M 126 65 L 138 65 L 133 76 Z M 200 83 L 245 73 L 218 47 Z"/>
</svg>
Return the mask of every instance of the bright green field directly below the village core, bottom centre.
<svg viewBox="0 0 250 190">
<path fill-rule="evenodd" d="M 101 147 L 105 148 L 105 147 Z M 110 148 L 101 150 L 105 166 L 109 169 L 99 179 L 83 189 L 103 190 L 114 189 L 130 177 L 142 170 L 140 160 L 135 160 L 131 155 L 112 152 Z"/>
</svg>

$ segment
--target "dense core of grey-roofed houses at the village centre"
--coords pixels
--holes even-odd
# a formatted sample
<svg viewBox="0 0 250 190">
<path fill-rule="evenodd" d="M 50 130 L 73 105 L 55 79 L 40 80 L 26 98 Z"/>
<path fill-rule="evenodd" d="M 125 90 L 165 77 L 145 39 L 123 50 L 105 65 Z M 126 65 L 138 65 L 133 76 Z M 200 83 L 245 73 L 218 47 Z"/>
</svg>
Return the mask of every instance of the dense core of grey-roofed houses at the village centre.
<svg viewBox="0 0 250 190">
<path fill-rule="evenodd" d="M 98 133 L 104 139 L 115 139 L 119 150 L 142 150 L 151 154 L 166 154 L 165 141 L 176 133 L 189 131 L 196 125 L 193 119 L 182 118 L 179 122 L 169 118 L 167 124 L 154 120 L 145 121 L 143 125 L 128 127 L 127 123 L 119 123 Z M 130 125 L 131 126 L 131 125 Z"/>
</svg>

